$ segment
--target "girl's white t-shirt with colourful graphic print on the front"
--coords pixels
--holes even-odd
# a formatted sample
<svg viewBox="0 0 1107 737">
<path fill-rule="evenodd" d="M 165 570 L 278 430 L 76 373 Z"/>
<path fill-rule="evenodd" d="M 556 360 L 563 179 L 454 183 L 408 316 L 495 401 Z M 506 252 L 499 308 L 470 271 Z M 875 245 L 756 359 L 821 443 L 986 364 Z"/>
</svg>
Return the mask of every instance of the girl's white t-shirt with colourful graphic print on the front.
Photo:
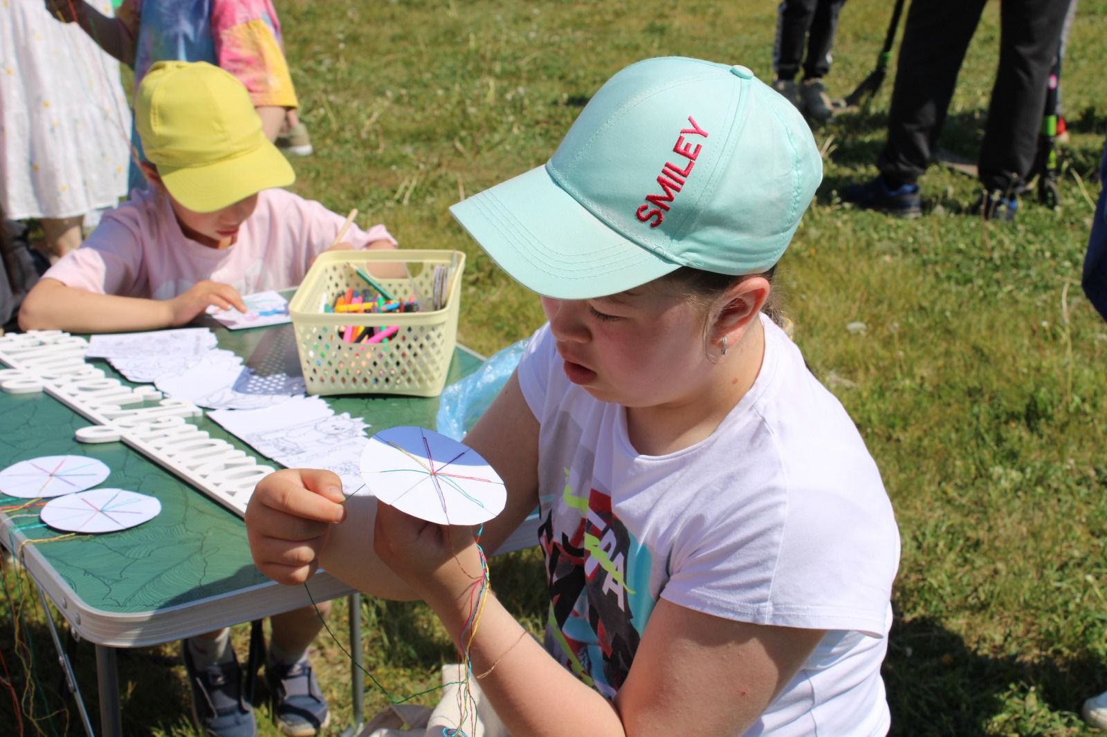
<svg viewBox="0 0 1107 737">
<path fill-rule="evenodd" d="M 549 325 L 535 333 L 518 372 L 541 425 L 546 646 L 612 698 L 659 596 L 828 630 L 746 735 L 883 735 L 880 664 L 899 565 L 891 504 L 841 404 L 763 323 L 753 387 L 710 437 L 665 456 L 637 453 L 623 407 L 569 382 Z"/>
</svg>

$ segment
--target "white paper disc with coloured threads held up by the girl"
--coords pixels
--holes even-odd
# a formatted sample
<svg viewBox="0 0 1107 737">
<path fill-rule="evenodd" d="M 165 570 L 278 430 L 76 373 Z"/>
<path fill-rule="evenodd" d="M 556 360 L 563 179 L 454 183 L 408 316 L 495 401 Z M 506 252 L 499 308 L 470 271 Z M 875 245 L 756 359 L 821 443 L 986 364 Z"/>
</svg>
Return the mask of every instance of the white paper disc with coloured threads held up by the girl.
<svg viewBox="0 0 1107 737">
<path fill-rule="evenodd" d="M 476 450 L 423 427 L 370 438 L 361 476 L 384 504 L 437 525 L 480 525 L 507 501 L 504 481 Z"/>
</svg>

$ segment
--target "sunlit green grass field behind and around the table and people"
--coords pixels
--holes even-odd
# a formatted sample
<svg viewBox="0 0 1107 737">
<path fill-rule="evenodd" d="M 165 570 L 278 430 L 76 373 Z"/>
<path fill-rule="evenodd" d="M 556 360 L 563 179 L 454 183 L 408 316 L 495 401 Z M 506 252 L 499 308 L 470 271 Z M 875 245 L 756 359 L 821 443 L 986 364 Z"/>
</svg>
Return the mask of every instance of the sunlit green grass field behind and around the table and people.
<svg viewBox="0 0 1107 737">
<path fill-rule="evenodd" d="M 594 90 L 630 62 L 696 55 L 769 79 L 775 23 L 774 2 L 749 0 L 283 0 L 279 10 L 317 150 L 293 162 L 293 188 L 340 212 L 358 207 L 362 225 L 384 222 L 404 246 L 466 250 L 459 339 L 483 352 L 537 328 L 540 310 L 447 206 L 544 162 Z M 889 15 L 888 2 L 846 4 L 832 93 L 871 70 Z M 997 39 L 992 2 L 940 147 L 974 157 Z M 1079 705 L 1107 688 L 1107 324 L 1078 283 L 1107 123 L 1105 39 L 1107 2 L 1083 0 L 1063 77 L 1072 139 L 1057 211 L 1031 199 L 1014 224 L 983 222 L 966 212 L 975 181 L 938 167 L 922 179 L 930 211 L 919 220 L 842 206 L 836 191 L 876 173 L 891 79 L 870 111 L 816 132 L 825 181 L 779 283 L 798 344 L 860 427 L 896 507 L 902 561 L 884 666 L 894 735 L 1092 734 Z M 848 332 L 855 321 L 867 330 Z M 494 560 L 492 577 L 537 631 L 536 553 Z M 11 572 L 7 581 L 18 603 L 21 582 Z M 42 734 L 77 734 L 41 610 L 22 591 L 20 636 L 34 646 L 38 695 L 23 691 L 25 673 L 13 674 L 15 685 Z M 365 610 L 376 677 L 397 695 L 434 685 L 453 653 L 427 610 L 377 601 Z M 343 620 L 340 605 L 338 630 Z M 236 639 L 245 653 L 245 631 Z M 8 613 L 0 647 L 15 662 Z M 319 648 L 341 724 L 349 662 L 325 637 Z M 94 694 L 92 648 L 76 652 Z M 121 677 L 128 735 L 193 734 L 175 647 L 123 657 Z M 6 698 L 0 733 L 10 734 Z M 385 704 L 370 692 L 366 712 Z M 261 733 L 276 734 L 260 712 Z"/>
</svg>

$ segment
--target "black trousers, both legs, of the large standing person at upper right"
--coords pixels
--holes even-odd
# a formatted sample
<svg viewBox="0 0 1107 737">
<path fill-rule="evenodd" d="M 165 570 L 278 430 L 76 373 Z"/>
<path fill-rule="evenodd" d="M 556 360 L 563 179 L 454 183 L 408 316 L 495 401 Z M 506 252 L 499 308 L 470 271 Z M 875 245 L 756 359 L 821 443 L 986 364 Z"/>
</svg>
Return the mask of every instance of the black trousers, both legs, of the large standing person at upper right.
<svg viewBox="0 0 1107 737">
<path fill-rule="evenodd" d="M 912 183 L 927 169 L 984 4 L 985 0 L 911 3 L 896 69 L 888 142 L 877 160 L 886 177 Z M 1046 77 L 1067 10 L 1067 0 L 1000 4 L 1000 68 L 977 162 L 986 189 L 1020 188 L 1034 165 Z"/>
</svg>

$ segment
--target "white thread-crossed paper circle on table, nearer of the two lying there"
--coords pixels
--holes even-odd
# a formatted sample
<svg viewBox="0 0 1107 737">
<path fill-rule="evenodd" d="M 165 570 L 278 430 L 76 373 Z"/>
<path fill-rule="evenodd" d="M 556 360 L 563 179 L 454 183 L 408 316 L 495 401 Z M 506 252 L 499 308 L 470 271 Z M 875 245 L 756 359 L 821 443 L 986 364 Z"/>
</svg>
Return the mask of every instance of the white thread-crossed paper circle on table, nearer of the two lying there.
<svg viewBox="0 0 1107 737">
<path fill-rule="evenodd" d="M 162 502 L 123 489 L 93 489 L 70 494 L 42 507 L 42 521 L 65 532 L 118 532 L 154 519 Z"/>
</svg>

